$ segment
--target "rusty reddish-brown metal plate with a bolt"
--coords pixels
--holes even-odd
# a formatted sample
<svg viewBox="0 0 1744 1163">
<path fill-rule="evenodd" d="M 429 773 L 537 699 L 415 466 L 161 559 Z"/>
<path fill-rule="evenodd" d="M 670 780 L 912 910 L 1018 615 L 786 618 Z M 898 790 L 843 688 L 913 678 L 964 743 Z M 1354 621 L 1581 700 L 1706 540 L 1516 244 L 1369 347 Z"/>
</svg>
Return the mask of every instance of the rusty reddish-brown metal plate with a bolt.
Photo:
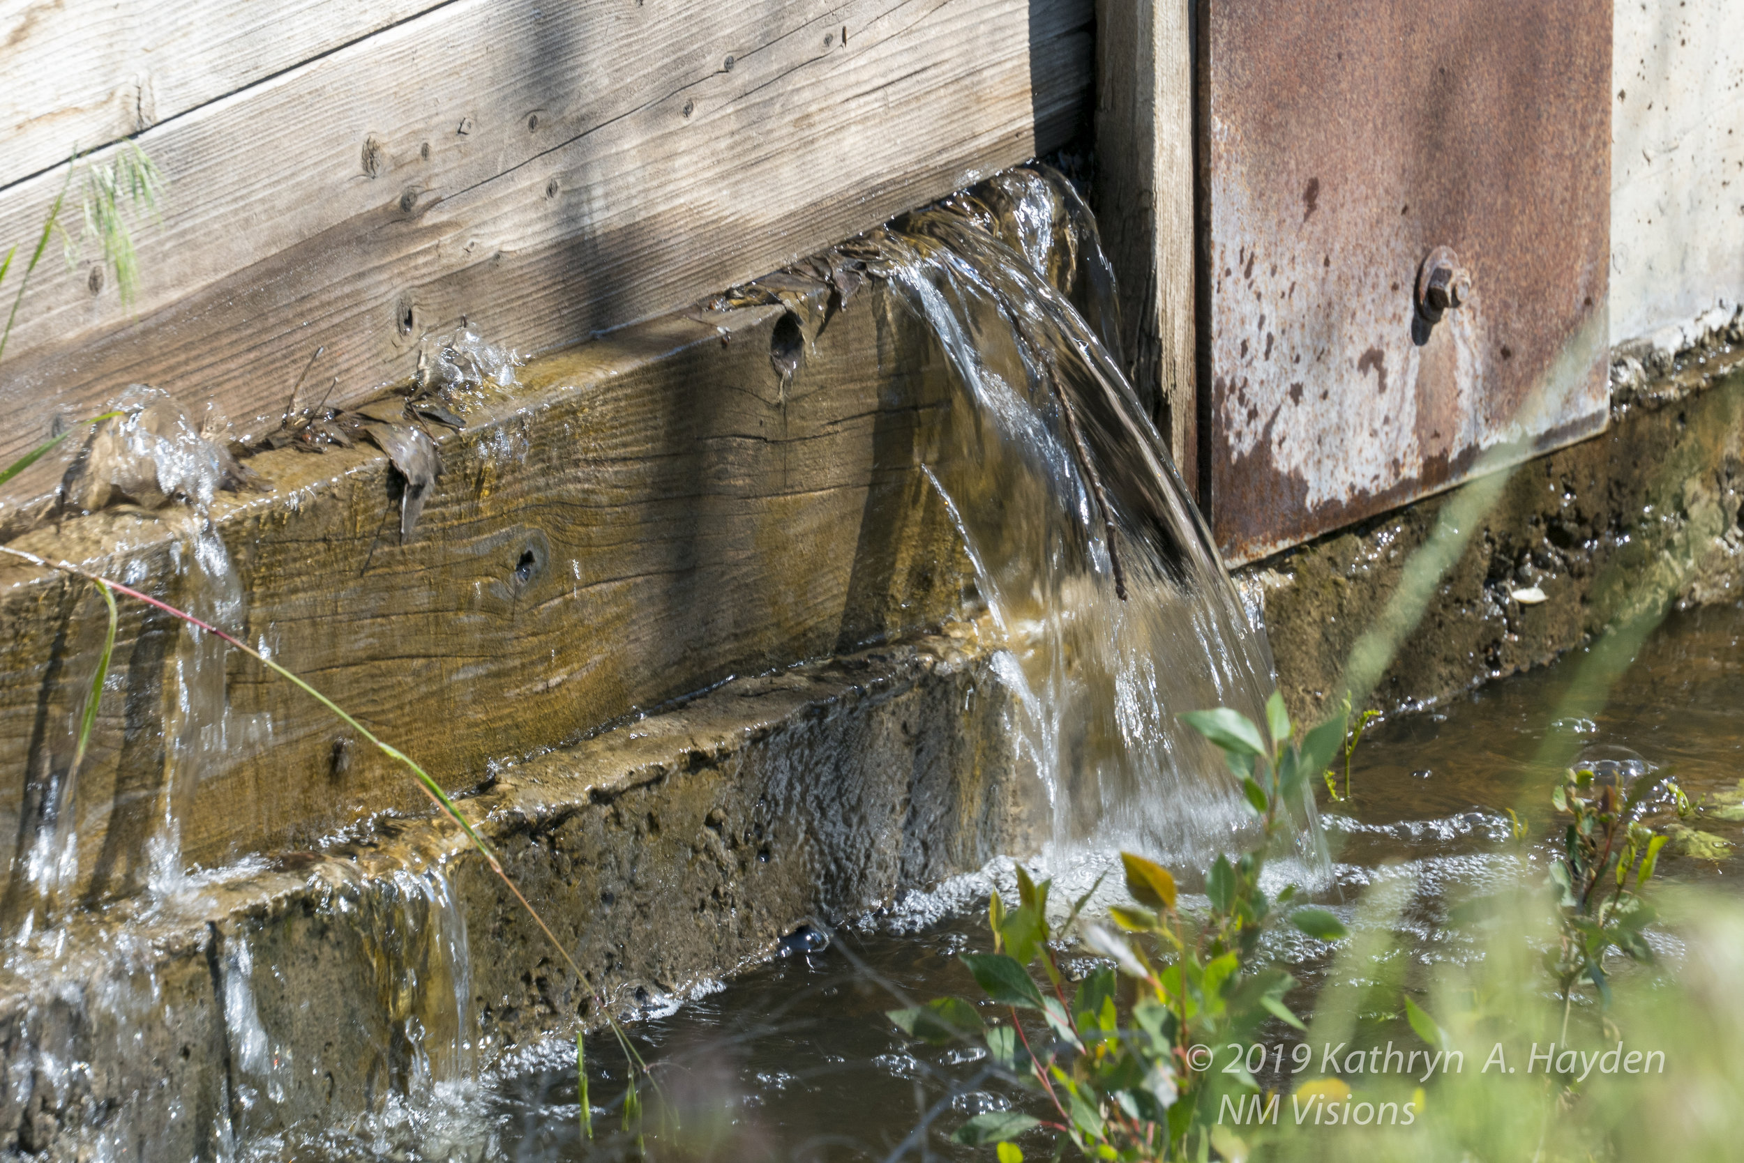
<svg viewBox="0 0 1744 1163">
<path fill-rule="evenodd" d="M 1601 431 L 1611 5 L 1200 7 L 1226 558 Z M 1420 289 L 1463 296 L 1430 324 Z"/>
</svg>

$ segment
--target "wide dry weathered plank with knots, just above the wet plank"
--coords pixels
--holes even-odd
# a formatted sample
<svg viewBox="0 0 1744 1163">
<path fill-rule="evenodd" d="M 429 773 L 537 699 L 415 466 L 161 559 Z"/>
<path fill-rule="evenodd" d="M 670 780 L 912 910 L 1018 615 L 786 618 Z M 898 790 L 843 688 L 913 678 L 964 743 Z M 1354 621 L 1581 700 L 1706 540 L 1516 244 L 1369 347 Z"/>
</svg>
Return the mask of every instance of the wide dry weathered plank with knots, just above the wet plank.
<svg viewBox="0 0 1744 1163">
<path fill-rule="evenodd" d="M 1057 145 L 1090 17 L 457 0 L 141 134 L 173 187 L 134 312 L 85 270 L 40 281 L 0 457 L 134 380 L 249 429 L 317 343 L 351 399 L 462 314 L 544 350 L 755 277 Z M 0 194 L 0 237 L 59 181 Z"/>
</svg>

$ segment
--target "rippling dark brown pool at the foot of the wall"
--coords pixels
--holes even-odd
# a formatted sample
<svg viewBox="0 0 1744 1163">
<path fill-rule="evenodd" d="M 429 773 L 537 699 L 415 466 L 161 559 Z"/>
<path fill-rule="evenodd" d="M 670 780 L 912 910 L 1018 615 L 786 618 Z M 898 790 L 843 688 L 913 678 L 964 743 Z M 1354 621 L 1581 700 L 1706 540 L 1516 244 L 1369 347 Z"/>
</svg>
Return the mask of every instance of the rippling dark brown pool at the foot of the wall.
<svg viewBox="0 0 1744 1163">
<path fill-rule="evenodd" d="M 1418 971 L 1430 971 L 1468 949 L 1446 924 L 1449 896 L 1519 875 L 1510 807 L 1540 840 L 1538 872 L 1528 875 L 1542 875 L 1550 772 L 1535 764 L 1547 753 L 1634 753 L 1645 764 L 1676 767 L 1692 800 L 1734 790 L 1744 776 L 1744 607 L 1672 614 L 1625 663 L 1608 703 L 1587 717 L 1564 711 L 1603 664 L 1603 652 L 1591 649 L 1371 727 L 1352 771 L 1353 799 L 1322 799 L 1334 849 L 1334 882 L 1324 901 L 1360 935 L 1364 917 L 1355 901 L 1364 889 L 1381 879 L 1411 879 L 1414 888 L 1393 928 Z M 1744 825 L 1695 823 L 1744 840 Z M 1087 882 L 1102 863 L 1095 854 L 1060 861 L 1062 886 Z M 1660 867 L 1674 881 L 1706 882 L 1728 882 L 1744 870 L 1735 858 L 1671 858 Z M 989 1083 L 975 1051 L 914 1043 L 882 1015 L 910 997 L 973 996 L 956 954 L 985 949 L 985 891 L 1006 877 L 1001 868 L 963 877 L 844 926 L 821 952 L 795 952 L 717 992 L 644 1015 L 631 1027 L 633 1039 L 656 1064 L 678 1111 L 677 1128 L 670 1121 L 663 1126 L 651 1111 L 642 1144 L 647 1156 L 970 1158 L 949 1142 L 949 1132 L 971 1112 L 1020 1098 Z M 1104 889 L 1104 898 L 1118 893 Z M 1676 947 L 1669 938 L 1666 943 Z M 1305 982 L 1292 1004 L 1311 1010 L 1325 982 L 1327 947 L 1277 935 L 1270 950 Z M 1285 1036 L 1278 1027 L 1266 1039 Z M 574 1062 L 567 1041 L 525 1050 L 480 1083 L 445 1092 L 433 1107 L 392 1109 L 358 1128 L 361 1133 L 328 1132 L 317 1154 L 633 1156 L 633 1137 L 619 1132 L 623 1055 L 609 1036 L 591 1037 L 591 1144 L 581 1139 Z M 307 1151 L 298 1154 L 307 1158 Z"/>
</svg>

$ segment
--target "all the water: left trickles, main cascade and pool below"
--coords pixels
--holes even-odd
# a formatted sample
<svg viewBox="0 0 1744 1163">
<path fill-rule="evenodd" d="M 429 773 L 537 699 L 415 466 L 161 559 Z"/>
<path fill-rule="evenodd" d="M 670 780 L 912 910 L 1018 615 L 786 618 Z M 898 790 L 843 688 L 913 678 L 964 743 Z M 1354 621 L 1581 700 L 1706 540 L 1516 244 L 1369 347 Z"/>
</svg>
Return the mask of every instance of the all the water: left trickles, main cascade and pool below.
<svg viewBox="0 0 1744 1163">
<path fill-rule="evenodd" d="M 930 432 L 924 471 L 970 551 L 1001 635 L 996 671 L 1017 696 L 1022 745 L 1052 797 L 1052 844 L 1036 868 L 1057 877 L 1053 900 L 1069 900 L 1109 870 L 1118 849 L 1141 849 L 1186 874 L 1191 888 L 1195 870 L 1247 842 L 1252 825 L 1221 757 L 1177 715 L 1221 704 L 1259 720 L 1273 685 L 1271 659 L 1146 403 L 1120 371 L 1111 281 L 1088 211 L 1057 174 L 1013 171 L 853 246 L 926 323 L 952 371 L 954 403 Z M 439 364 L 434 373 L 446 370 Z M 146 457 L 150 474 L 138 459 L 117 462 L 133 466 L 126 467 L 133 476 L 112 474 L 105 486 L 152 485 L 157 493 L 146 495 L 159 504 L 195 500 L 181 514 L 188 528 L 176 563 L 185 579 L 180 596 L 208 621 L 237 628 L 241 589 L 199 502 L 202 488 L 209 500 L 213 479 L 176 476 L 199 467 L 201 448 L 171 441 L 157 453 Z M 1692 797 L 1744 799 L 1741 642 L 1737 607 L 1679 614 L 1648 640 L 1603 711 L 1564 713 L 1578 684 L 1577 654 L 1388 722 L 1364 745 L 1348 802 L 1324 820 L 1313 795 L 1292 806 L 1294 860 L 1273 867 L 1305 882 L 1359 933 L 1397 935 L 1413 966 L 1467 957 L 1472 949 L 1446 924 L 1449 903 L 1529 867 L 1509 811 L 1535 835 L 1547 833 L 1545 755 L 1585 748 L 1615 764 L 1678 764 Z M 183 633 L 169 673 L 166 778 L 143 875 L 146 912 L 199 903 L 204 881 L 183 870 L 178 820 L 237 729 L 225 708 L 216 642 Z M 72 779 L 45 788 L 28 860 L 40 901 L 26 926 L 52 915 L 78 877 L 77 788 Z M 1744 807 L 1734 814 L 1744 820 Z M 1741 839 L 1723 814 L 1704 826 Z M 1730 858 L 1671 858 L 1666 867 L 1695 881 L 1727 879 L 1737 868 Z M 439 868 L 337 886 L 323 917 L 349 926 L 363 943 L 371 975 L 363 990 L 373 989 L 389 1030 L 387 1097 L 333 1126 L 281 1126 L 274 1105 L 284 1079 L 309 1069 L 295 1060 L 288 1036 L 295 1006 L 263 1003 L 274 966 L 248 933 L 225 931 L 220 940 L 213 929 L 228 1071 L 228 1118 L 218 1123 L 215 1153 L 431 1161 L 614 1158 L 644 1149 L 677 1160 L 966 1158 L 947 1133 L 968 1114 L 1022 1095 L 991 1081 L 973 1051 L 917 1044 L 882 1013 L 910 999 L 973 994 L 956 954 L 987 947 L 980 922 L 987 893 L 1010 894 L 1013 875 L 1010 861 L 996 861 L 853 919 L 823 949 L 795 943 L 792 956 L 731 985 L 624 1013 L 635 1018 L 631 1037 L 656 1064 L 661 1088 L 642 1144 L 614 1130 L 626 1062 L 605 1036 L 591 1037 L 600 1128 L 591 1144 L 581 1137 L 572 1041 L 556 1037 L 481 1062 L 467 987 L 473 943 Z M 1374 888 L 1395 900 L 1385 915 L 1357 907 Z M 1121 898 L 1118 875 L 1100 894 L 1092 908 Z M 77 1092 L 80 1078 L 101 1069 L 113 1044 L 105 1039 L 127 1037 L 167 1013 L 160 983 L 138 968 L 143 949 L 122 942 L 84 950 L 63 938 L 65 929 L 26 928 L 7 964 L 31 990 L 21 1024 L 38 1048 L 33 1069 L 42 1081 L 33 1086 L 56 1095 Z M 1266 950 L 1303 982 L 1292 1003 L 1310 1010 L 1329 982 L 1329 947 L 1278 933 Z M 68 1011 L 84 1015 L 85 1029 L 58 1029 Z M 1289 1037 L 1282 1027 L 1271 1036 Z M 153 1098 L 141 1090 L 127 1102 L 145 1109 Z M 91 1118 L 98 1158 L 129 1158 L 131 1144 L 103 1137 L 126 1132 L 126 1112 Z"/>
</svg>

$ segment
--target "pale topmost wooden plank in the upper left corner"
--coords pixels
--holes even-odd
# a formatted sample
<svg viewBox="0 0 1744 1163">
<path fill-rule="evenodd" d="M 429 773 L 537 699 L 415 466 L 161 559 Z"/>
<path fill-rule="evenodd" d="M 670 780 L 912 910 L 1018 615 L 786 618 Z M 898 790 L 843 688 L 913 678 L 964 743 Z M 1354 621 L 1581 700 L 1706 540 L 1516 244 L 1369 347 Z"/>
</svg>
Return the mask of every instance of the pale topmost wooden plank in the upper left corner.
<svg viewBox="0 0 1744 1163">
<path fill-rule="evenodd" d="M 441 0 L 0 0 L 0 188 Z"/>
</svg>

